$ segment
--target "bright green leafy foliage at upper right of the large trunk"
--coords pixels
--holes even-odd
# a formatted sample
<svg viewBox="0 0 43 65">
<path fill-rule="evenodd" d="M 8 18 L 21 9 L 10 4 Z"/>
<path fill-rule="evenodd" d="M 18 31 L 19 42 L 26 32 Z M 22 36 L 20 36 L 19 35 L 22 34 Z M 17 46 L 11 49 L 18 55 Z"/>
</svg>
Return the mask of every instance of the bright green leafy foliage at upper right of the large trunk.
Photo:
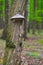
<svg viewBox="0 0 43 65">
<path fill-rule="evenodd" d="M 30 0 L 30 20 L 42 21 L 43 17 L 43 1 L 37 0 L 36 11 L 34 16 L 34 0 Z"/>
</svg>

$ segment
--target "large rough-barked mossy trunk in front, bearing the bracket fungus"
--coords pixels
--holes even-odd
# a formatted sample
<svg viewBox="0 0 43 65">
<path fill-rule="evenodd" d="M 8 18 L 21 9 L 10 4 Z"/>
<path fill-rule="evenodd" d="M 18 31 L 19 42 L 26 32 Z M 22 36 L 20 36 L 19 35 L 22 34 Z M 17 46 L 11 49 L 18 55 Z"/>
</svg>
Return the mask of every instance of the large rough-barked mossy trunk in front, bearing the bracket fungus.
<svg viewBox="0 0 43 65">
<path fill-rule="evenodd" d="M 15 4 L 14 4 L 15 3 Z M 10 12 L 10 16 L 15 15 L 17 13 L 20 13 L 23 15 L 24 12 L 24 0 L 14 0 L 12 9 Z M 7 14 L 8 15 L 8 14 Z M 22 38 L 19 37 L 19 23 L 13 23 L 9 19 L 9 26 L 11 26 L 11 30 L 9 31 L 9 28 L 7 27 L 7 36 L 6 36 L 6 48 L 5 50 L 5 57 L 4 62 L 5 65 L 21 65 L 21 52 L 22 52 Z M 8 20 L 7 19 L 7 20 Z"/>
</svg>

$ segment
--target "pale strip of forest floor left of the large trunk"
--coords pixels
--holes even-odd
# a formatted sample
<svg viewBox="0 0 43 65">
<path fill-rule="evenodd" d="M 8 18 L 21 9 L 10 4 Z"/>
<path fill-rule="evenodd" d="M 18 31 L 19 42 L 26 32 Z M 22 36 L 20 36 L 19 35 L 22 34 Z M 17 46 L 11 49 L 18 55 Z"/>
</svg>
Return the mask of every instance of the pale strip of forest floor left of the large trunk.
<svg viewBox="0 0 43 65">
<path fill-rule="evenodd" d="M 3 65 L 5 46 L 6 46 L 5 40 L 0 39 L 0 65 Z"/>
</svg>

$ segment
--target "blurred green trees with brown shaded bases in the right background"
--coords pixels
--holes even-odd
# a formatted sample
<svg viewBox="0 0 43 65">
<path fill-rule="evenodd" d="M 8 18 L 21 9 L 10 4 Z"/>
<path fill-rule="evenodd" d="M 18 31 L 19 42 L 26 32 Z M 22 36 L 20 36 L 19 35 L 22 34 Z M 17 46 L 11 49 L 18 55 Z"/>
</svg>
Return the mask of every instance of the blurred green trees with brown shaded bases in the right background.
<svg viewBox="0 0 43 65">
<path fill-rule="evenodd" d="M 35 28 L 38 30 L 42 30 L 42 18 L 43 16 L 43 1 L 42 0 L 30 0 L 30 22 L 32 23 L 33 33 L 35 32 Z M 38 26 L 37 26 L 38 25 Z"/>
</svg>

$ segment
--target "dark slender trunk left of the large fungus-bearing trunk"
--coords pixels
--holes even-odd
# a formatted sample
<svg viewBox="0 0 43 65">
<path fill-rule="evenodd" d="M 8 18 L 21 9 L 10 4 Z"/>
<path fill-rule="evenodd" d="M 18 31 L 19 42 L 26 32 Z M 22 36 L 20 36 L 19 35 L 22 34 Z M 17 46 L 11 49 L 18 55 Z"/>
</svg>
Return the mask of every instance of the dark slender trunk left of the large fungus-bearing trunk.
<svg viewBox="0 0 43 65">
<path fill-rule="evenodd" d="M 9 1 L 5 0 L 5 26 L 3 32 L 3 39 L 6 39 L 7 35 L 7 27 L 8 27 L 8 20 L 9 20 Z"/>
</svg>

